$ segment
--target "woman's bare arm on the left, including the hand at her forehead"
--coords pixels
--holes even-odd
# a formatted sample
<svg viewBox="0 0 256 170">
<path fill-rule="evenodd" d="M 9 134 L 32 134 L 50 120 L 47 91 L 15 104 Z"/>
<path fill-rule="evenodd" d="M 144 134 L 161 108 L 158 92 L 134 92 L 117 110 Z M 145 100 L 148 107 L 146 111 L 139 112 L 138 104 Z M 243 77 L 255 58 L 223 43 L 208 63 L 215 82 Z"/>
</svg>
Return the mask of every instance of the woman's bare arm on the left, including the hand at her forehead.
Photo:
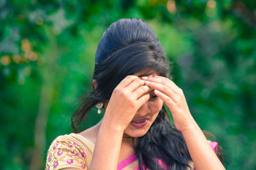
<svg viewBox="0 0 256 170">
<path fill-rule="evenodd" d="M 116 170 L 124 130 L 150 98 L 145 94 L 148 90 L 144 80 L 127 76 L 113 91 L 100 125 L 90 170 Z"/>
</svg>

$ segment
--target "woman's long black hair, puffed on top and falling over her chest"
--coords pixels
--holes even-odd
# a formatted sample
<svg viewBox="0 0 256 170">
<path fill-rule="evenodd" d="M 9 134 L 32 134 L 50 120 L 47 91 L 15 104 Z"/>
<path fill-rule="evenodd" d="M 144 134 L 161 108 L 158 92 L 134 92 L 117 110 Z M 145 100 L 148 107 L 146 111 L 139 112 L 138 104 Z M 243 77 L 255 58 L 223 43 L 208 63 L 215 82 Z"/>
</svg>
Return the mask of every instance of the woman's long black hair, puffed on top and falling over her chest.
<svg viewBox="0 0 256 170">
<path fill-rule="evenodd" d="M 76 131 L 76 125 L 81 124 L 95 104 L 109 101 L 115 87 L 127 75 L 142 70 L 170 78 L 170 67 L 156 33 L 140 19 L 114 22 L 104 32 L 95 54 L 93 79 L 97 88 L 83 96 L 72 115 L 72 128 Z M 163 169 L 158 159 L 169 169 L 188 169 L 191 162 L 184 138 L 171 124 L 164 106 L 148 132 L 136 141 L 135 150 L 140 169 L 142 162 L 149 169 Z"/>
</svg>

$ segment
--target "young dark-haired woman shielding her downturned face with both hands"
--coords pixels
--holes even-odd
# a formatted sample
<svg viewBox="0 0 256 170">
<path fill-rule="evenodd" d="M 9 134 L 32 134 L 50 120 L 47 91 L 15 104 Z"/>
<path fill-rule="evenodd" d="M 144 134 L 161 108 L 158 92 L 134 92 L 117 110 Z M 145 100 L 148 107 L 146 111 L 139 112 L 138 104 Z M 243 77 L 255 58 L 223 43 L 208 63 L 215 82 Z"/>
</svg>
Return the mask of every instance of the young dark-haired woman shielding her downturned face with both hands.
<svg viewBox="0 0 256 170">
<path fill-rule="evenodd" d="M 95 55 L 93 91 L 72 116 L 72 127 L 95 105 L 104 106 L 104 117 L 90 129 L 54 139 L 45 169 L 225 169 L 214 153 L 217 144 L 207 141 L 169 73 L 148 24 L 111 24 Z"/>
</svg>

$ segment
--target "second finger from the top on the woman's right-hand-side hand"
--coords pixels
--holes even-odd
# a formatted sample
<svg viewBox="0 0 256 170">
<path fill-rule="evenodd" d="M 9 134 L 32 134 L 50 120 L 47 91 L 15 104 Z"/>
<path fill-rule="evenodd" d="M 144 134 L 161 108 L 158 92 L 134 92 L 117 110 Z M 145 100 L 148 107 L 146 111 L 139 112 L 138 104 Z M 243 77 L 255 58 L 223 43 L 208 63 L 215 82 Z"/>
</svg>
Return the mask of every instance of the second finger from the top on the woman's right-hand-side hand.
<svg viewBox="0 0 256 170">
<path fill-rule="evenodd" d="M 145 85 L 147 85 L 148 87 L 151 87 L 152 89 L 156 89 L 159 92 L 162 92 L 166 96 L 170 97 L 173 101 L 177 102 L 177 94 L 175 94 L 173 90 L 170 89 L 168 86 L 155 83 L 152 81 L 145 81 Z"/>
</svg>

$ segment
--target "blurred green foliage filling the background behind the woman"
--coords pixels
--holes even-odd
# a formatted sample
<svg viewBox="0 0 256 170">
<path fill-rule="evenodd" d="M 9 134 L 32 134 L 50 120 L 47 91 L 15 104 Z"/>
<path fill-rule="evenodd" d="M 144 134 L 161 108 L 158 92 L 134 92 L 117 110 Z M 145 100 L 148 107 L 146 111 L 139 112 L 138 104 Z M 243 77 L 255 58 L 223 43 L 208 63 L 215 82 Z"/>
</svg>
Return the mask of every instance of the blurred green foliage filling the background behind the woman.
<svg viewBox="0 0 256 170">
<path fill-rule="evenodd" d="M 119 18 L 152 26 L 202 129 L 227 169 L 256 167 L 256 2 L 0 0 L 0 169 L 43 169 L 56 136 L 72 132 L 92 89 L 94 55 Z M 99 121 L 92 110 L 84 128 Z"/>
</svg>

